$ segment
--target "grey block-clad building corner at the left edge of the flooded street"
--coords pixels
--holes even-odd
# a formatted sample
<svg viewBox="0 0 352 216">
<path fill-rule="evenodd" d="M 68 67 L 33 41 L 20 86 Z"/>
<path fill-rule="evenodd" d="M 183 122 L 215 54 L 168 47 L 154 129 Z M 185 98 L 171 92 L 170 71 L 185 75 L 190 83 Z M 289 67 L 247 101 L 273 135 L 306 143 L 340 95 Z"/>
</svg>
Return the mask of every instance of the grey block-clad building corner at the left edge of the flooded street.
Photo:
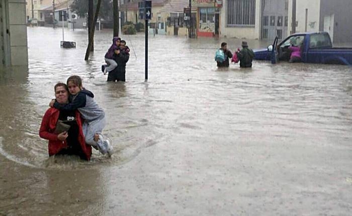
<svg viewBox="0 0 352 216">
<path fill-rule="evenodd" d="M 0 0 L 0 69 L 28 65 L 25 0 Z"/>
</svg>

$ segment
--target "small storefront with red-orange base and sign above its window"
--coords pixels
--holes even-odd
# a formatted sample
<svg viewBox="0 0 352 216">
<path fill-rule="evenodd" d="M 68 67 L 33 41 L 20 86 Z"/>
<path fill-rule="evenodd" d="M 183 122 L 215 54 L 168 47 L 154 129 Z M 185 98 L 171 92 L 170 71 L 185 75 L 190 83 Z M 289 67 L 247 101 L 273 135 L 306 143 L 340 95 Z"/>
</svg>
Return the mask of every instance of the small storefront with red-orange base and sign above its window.
<svg viewBox="0 0 352 216">
<path fill-rule="evenodd" d="M 197 7 L 197 36 L 215 37 L 219 35 L 220 10 L 222 1 L 192 0 L 192 7 Z"/>
</svg>

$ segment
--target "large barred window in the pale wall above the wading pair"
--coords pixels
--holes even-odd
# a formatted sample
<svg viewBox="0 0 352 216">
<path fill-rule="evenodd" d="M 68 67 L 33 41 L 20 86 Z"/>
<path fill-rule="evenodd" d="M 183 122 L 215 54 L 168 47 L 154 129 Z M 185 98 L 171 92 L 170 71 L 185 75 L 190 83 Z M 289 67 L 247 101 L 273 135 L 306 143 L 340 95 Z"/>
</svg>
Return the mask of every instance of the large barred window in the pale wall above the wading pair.
<svg viewBox="0 0 352 216">
<path fill-rule="evenodd" d="M 228 0 L 227 26 L 254 26 L 255 0 Z"/>
</svg>

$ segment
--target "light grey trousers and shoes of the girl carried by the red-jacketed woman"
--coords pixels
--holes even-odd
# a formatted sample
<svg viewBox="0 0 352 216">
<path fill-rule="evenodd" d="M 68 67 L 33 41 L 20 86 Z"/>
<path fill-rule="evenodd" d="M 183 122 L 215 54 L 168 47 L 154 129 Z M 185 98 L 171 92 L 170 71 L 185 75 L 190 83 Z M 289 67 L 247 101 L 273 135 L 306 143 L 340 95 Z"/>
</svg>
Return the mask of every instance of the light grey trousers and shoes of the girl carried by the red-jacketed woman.
<svg viewBox="0 0 352 216">
<path fill-rule="evenodd" d="M 94 120 L 87 124 L 83 129 L 85 143 L 93 146 L 103 154 L 108 154 L 111 156 L 113 154 L 113 147 L 109 140 L 105 139 L 102 135 L 103 129 L 106 125 L 105 117 L 101 119 Z M 84 126 L 84 124 L 83 124 Z"/>
</svg>

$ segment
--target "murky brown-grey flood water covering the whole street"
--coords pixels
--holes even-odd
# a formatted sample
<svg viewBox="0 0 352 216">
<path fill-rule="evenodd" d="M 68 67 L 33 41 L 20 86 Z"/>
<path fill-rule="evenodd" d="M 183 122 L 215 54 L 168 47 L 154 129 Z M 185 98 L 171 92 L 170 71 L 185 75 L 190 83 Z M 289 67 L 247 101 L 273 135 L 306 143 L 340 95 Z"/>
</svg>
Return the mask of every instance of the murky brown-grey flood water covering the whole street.
<svg viewBox="0 0 352 216">
<path fill-rule="evenodd" d="M 232 64 L 222 40 L 124 36 L 126 83 L 100 70 L 112 32 L 28 28 L 29 66 L 0 75 L 0 215 L 348 215 L 352 67 Z M 223 39 L 235 50 L 241 40 Z M 252 48 L 266 42 L 248 41 Z M 21 60 L 21 59 L 18 59 Z M 112 158 L 48 158 L 38 135 L 54 85 L 79 75 L 106 111 Z"/>
</svg>

